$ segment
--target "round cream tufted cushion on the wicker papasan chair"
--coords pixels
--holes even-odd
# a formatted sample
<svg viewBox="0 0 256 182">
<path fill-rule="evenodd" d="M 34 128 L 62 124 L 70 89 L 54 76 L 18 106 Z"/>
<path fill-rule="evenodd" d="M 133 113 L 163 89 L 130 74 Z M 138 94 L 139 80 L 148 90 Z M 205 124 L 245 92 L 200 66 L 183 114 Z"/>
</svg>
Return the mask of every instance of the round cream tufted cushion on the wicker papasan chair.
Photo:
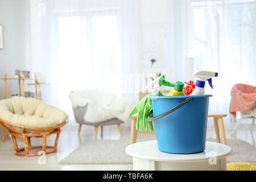
<svg viewBox="0 0 256 182">
<path fill-rule="evenodd" d="M 52 127 L 67 119 L 64 111 L 34 98 L 10 98 L 0 101 L 0 119 L 25 127 Z"/>
</svg>

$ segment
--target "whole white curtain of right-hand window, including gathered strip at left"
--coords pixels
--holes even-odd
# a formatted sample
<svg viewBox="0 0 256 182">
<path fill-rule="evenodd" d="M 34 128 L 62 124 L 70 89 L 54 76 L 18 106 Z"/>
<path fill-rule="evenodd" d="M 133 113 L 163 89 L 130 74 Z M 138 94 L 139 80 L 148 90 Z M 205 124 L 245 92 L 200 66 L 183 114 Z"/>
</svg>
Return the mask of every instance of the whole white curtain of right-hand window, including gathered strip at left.
<svg viewBox="0 0 256 182">
<path fill-rule="evenodd" d="M 184 80 L 191 56 L 195 71 L 218 72 L 214 89 L 205 86 L 209 111 L 228 113 L 234 84 L 256 85 L 255 10 L 254 0 L 170 1 L 170 75 Z"/>
</svg>

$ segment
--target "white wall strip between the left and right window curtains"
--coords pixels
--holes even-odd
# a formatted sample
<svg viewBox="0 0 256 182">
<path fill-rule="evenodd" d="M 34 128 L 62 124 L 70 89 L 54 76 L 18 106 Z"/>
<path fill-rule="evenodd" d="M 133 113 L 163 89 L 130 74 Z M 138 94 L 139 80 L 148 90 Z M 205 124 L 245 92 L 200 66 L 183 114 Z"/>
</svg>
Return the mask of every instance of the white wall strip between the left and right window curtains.
<svg viewBox="0 0 256 182">
<path fill-rule="evenodd" d="M 141 73 L 166 74 L 168 61 L 168 0 L 140 0 L 142 57 Z M 151 59 L 156 62 L 151 68 Z"/>
</svg>

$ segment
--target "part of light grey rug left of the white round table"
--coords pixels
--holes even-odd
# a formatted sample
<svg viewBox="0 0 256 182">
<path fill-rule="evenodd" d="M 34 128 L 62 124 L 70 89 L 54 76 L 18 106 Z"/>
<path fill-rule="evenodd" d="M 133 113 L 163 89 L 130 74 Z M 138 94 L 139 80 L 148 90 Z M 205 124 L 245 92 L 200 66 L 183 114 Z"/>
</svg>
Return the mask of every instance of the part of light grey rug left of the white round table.
<svg viewBox="0 0 256 182">
<path fill-rule="evenodd" d="M 133 158 L 125 153 L 129 140 L 88 140 L 60 164 L 133 164 Z"/>
</svg>

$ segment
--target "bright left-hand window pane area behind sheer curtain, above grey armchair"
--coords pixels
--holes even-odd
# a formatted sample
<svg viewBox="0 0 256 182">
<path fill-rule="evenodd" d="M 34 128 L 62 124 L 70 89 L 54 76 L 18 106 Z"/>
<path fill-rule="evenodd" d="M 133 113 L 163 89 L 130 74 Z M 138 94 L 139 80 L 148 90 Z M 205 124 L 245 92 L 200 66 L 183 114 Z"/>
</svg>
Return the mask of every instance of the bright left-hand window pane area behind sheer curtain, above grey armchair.
<svg viewBox="0 0 256 182">
<path fill-rule="evenodd" d="M 121 94 L 117 14 L 60 16 L 60 75 L 72 89 L 98 88 Z M 110 90 L 111 89 L 111 90 Z"/>
</svg>

